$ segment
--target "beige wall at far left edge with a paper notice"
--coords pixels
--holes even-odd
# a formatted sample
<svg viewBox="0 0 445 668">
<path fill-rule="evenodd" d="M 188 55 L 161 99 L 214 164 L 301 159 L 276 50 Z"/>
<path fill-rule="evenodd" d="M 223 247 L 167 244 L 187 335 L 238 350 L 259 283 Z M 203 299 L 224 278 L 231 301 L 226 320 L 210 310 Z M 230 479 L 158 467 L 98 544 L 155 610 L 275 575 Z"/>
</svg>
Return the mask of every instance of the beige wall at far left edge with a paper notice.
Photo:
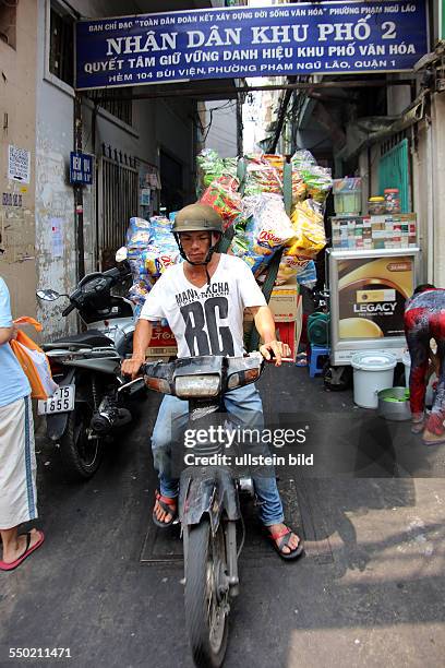
<svg viewBox="0 0 445 668">
<path fill-rule="evenodd" d="M 36 20 L 37 3 L 22 0 L 16 9 L 16 48 L 0 39 L 0 248 L 5 250 L 0 254 L 0 275 L 9 286 L 14 317 L 36 314 Z M 29 183 L 8 179 L 10 144 L 31 153 Z M 15 205 L 10 205 L 11 198 Z"/>
</svg>

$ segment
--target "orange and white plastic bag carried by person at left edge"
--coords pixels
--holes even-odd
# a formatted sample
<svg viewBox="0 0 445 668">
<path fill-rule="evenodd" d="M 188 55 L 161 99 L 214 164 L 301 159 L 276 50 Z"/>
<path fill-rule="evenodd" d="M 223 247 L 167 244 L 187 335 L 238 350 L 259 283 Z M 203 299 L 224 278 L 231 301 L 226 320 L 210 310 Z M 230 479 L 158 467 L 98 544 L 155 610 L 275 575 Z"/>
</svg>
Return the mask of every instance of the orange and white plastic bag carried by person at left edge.
<svg viewBox="0 0 445 668">
<path fill-rule="evenodd" d="M 34 318 L 17 318 L 14 324 L 31 324 L 37 332 L 41 332 L 41 324 Z M 31 396 L 37 399 L 52 396 L 58 384 L 52 380 L 48 358 L 41 348 L 21 330 L 16 338 L 10 342 L 10 346 L 29 381 Z"/>
</svg>

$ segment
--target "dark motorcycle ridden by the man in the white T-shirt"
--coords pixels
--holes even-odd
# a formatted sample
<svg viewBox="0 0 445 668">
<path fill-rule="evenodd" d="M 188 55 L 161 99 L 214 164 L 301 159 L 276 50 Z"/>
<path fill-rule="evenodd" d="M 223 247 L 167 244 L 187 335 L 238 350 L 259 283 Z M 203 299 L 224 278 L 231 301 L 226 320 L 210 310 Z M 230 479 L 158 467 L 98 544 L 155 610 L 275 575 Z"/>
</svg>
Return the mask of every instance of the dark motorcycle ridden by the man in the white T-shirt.
<svg viewBox="0 0 445 668">
<path fill-rule="evenodd" d="M 258 353 L 239 358 L 201 356 L 142 367 L 148 389 L 189 401 L 188 428 L 201 434 L 203 429 L 212 433 L 209 427 L 221 420 L 224 394 L 255 382 L 263 368 Z M 201 457 L 224 456 L 225 450 L 224 442 L 200 439 L 193 454 L 204 464 L 206 460 Z M 199 668 L 217 668 L 224 661 L 230 601 L 239 594 L 238 558 L 244 542 L 239 492 L 245 491 L 246 482 L 249 478 L 234 476 L 219 462 L 187 466 L 180 475 L 185 624 Z M 239 521 L 243 535 L 237 545 Z"/>
</svg>

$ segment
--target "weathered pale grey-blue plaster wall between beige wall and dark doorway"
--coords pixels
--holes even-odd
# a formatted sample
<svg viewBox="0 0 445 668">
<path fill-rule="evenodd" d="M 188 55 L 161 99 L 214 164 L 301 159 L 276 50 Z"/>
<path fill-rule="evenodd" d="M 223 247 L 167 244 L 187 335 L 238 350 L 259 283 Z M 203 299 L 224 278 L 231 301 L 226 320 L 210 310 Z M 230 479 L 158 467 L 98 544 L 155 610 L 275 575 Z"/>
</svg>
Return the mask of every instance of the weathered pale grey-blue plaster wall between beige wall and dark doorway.
<svg viewBox="0 0 445 668">
<path fill-rule="evenodd" d="M 47 76 L 47 2 L 39 2 L 36 130 L 37 285 L 69 293 L 75 284 L 76 252 L 73 189 L 69 183 L 73 150 L 73 96 Z M 88 210 L 86 207 L 86 217 Z M 60 234 L 60 238 L 59 237 Z M 88 246 L 86 244 L 86 248 Z M 61 318 L 67 306 L 39 302 L 44 336 L 61 336 L 75 327 L 75 315 Z"/>
</svg>

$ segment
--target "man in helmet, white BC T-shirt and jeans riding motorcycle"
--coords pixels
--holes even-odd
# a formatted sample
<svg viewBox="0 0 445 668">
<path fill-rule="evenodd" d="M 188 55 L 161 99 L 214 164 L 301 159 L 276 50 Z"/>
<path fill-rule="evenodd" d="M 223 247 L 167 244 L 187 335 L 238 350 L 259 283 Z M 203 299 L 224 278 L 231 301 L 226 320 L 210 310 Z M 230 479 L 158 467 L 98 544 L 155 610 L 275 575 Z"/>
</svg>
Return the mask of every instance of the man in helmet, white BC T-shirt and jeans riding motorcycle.
<svg viewBox="0 0 445 668">
<path fill-rule="evenodd" d="M 133 356 L 122 365 L 125 374 L 135 375 L 145 361 L 153 322 L 166 319 L 178 343 L 178 357 L 197 355 L 243 355 L 243 312 L 249 309 L 265 342 L 260 351 L 267 360 L 289 355 L 289 347 L 276 341 L 275 323 L 252 272 L 240 258 L 216 252 L 222 235 L 222 220 L 205 204 L 191 204 L 178 212 L 172 232 L 184 262 L 168 267 L 143 306 L 136 325 Z M 226 409 L 242 428 L 260 432 L 264 426 L 263 406 L 253 384 L 225 394 Z M 169 472 L 171 444 L 180 440 L 188 420 L 188 402 L 166 395 L 152 434 L 159 491 L 153 511 L 157 526 L 169 526 L 178 513 L 178 478 Z M 262 453 L 267 446 L 256 443 Z M 284 559 L 296 559 L 303 551 L 302 540 L 284 523 L 282 505 L 275 475 L 253 475 L 260 503 L 260 520 Z"/>
</svg>

